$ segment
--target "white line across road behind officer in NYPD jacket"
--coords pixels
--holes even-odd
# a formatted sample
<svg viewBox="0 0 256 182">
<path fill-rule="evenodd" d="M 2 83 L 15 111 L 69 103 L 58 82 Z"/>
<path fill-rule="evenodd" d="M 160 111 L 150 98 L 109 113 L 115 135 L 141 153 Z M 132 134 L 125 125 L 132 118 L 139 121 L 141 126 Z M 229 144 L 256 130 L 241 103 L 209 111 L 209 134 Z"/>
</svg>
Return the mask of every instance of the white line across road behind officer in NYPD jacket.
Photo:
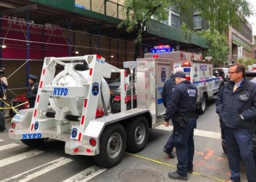
<svg viewBox="0 0 256 182">
<path fill-rule="evenodd" d="M 158 127 L 155 127 L 155 128 L 159 129 L 159 130 L 165 130 L 165 131 L 173 130 L 173 126 L 165 127 L 164 124 L 160 124 Z M 220 132 L 210 132 L 210 131 L 206 131 L 206 130 L 195 129 L 194 135 L 206 137 L 206 138 L 222 139 Z"/>
</svg>

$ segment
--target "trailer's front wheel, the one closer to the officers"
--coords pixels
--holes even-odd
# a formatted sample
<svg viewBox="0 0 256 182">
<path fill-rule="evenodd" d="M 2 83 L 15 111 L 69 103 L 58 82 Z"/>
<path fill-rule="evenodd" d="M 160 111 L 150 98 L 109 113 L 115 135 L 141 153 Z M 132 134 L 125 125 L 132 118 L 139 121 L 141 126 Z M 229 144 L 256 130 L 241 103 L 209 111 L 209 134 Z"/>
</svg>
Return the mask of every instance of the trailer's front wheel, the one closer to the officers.
<svg viewBox="0 0 256 182">
<path fill-rule="evenodd" d="M 144 116 L 137 116 L 127 124 L 127 151 L 142 151 L 148 143 L 148 121 Z"/>
</svg>

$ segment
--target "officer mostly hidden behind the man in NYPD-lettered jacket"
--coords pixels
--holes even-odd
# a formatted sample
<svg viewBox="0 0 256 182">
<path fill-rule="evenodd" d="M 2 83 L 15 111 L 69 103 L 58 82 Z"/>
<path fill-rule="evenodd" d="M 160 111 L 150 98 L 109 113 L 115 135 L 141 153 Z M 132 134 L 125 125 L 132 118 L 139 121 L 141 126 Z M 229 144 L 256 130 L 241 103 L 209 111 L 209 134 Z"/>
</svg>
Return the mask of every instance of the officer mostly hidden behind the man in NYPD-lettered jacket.
<svg viewBox="0 0 256 182">
<path fill-rule="evenodd" d="M 164 88 L 162 89 L 162 103 L 164 104 L 165 108 L 166 108 L 166 100 L 170 99 L 170 93 L 172 92 L 173 87 L 176 86 L 174 74 L 176 74 L 178 71 L 183 71 L 183 68 L 181 68 L 181 67 L 175 68 L 172 76 L 170 76 L 170 79 L 168 79 L 165 82 Z M 167 143 L 165 144 L 163 151 L 171 159 L 174 158 L 174 155 L 172 153 L 173 148 L 174 148 L 173 135 L 170 135 L 170 138 L 168 139 Z"/>
</svg>

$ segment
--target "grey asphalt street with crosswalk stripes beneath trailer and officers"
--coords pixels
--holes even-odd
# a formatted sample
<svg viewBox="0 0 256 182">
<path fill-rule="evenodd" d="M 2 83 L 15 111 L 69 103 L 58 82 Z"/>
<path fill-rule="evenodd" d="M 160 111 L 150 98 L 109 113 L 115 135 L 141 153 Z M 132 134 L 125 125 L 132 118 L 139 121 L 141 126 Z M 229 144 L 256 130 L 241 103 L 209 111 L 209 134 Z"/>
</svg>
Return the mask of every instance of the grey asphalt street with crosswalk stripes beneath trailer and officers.
<svg viewBox="0 0 256 182">
<path fill-rule="evenodd" d="M 7 119 L 10 127 L 10 119 Z M 176 158 L 162 152 L 171 127 L 162 124 L 150 132 L 146 149 L 136 155 L 125 154 L 119 165 L 102 169 L 91 157 L 64 154 L 64 143 L 48 141 L 32 149 L 0 133 L 0 181 L 171 181 L 167 173 L 176 170 Z M 197 120 L 194 172 L 189 181 L 225 181 L 230 172 L 222 151 L 219 119 L 214 100 Z M 242 181 L 246 181 L 241 165 Z"/>
</svg>

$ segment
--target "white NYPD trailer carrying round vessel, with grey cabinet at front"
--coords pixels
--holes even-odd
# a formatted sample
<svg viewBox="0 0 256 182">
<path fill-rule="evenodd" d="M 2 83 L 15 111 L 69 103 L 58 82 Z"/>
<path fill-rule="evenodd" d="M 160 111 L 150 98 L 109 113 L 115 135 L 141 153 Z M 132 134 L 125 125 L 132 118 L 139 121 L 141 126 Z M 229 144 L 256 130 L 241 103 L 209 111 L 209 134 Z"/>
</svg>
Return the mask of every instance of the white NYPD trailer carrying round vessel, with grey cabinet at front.
<svg viewBox="0 0 256 182">
<path fill-rule="evenodd" d="M 125 151 L 146 147 L 148 129 L 165 108 L 156 87 L 170 77 L 170 60 L 139 59 L 127 64 L 137 69 L 137 108 L 127 110 L 127 71 L 99 55 L 45 58 L 34 108 L 18 111 L 10 138 L 28 146 L 42 146 L 48 138 L 64 141 L 65 153 L 93 156 L 98 165 L 113 167 Z M 56 66 L 64 70 L 56 74 Z M 120 74 L 121 111 L 111 112 L 105 79 Z M 49 105 L 50 103 L 50 105 Z"/>
</svg>

